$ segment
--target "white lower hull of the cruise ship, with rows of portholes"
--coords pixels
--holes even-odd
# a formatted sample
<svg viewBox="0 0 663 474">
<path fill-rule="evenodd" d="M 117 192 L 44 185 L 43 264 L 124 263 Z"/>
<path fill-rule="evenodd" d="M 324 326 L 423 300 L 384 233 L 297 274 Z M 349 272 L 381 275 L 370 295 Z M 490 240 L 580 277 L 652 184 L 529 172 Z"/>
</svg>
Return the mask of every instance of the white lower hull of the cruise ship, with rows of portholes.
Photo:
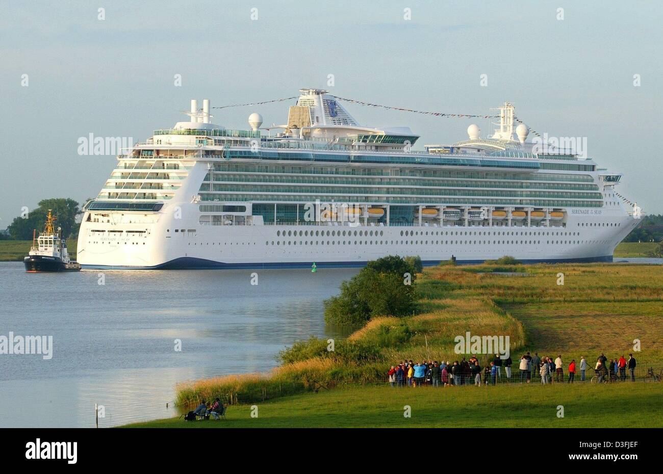
<svg viewBox="0 0 663 474">
<path fill-rule="evenodd" d="M 617 209 L 599 211 L 572 214 L 566 227 L 200 225 L 198 219 L 173 219 L 166 211 L 148 225 L 84 222 L 78 262 L 84 268 L 117 269 L 361 267 L 385 255 L 418 255 L 424 265 L 452 256 L 459 263 L 481 263 L 505 255 L 524 263 L 609 262 L 640 219 Z M 174 227 L 195 232 L 175 233 Z M 118 232 L 137 229 L 145 233 Z"/>
</svg>

